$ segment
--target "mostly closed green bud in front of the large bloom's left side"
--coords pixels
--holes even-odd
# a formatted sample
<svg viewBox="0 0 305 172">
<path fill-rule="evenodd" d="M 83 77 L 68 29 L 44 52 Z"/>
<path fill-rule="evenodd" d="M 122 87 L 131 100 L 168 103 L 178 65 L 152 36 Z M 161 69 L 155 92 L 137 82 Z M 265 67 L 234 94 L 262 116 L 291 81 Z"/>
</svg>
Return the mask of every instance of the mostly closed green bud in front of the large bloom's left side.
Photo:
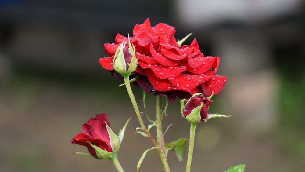
<svg viewBox="0 0 305 172">
<path fill-rule="evenodd" d="M 126 44 L 127 42 L 122 42 L 113 57 L 113 69 L 121 75 L 131 74 L 138 65 L 134 46 L 131 45 L 129 40 L 128 46 Z"/>
</svg>

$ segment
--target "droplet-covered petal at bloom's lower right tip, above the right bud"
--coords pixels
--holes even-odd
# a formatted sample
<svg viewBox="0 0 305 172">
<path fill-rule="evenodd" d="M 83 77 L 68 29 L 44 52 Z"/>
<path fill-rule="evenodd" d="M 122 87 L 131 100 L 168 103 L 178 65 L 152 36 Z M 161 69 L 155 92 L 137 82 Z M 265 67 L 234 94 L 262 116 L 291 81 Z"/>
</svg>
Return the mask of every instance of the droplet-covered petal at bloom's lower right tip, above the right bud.
<svg viewBox="0 0 305 172">
<path fill-rule="evenodd" d="M 213 75 L 209 79 L 209 81 L 207 81 L 201 85 L 203 94 L 206 96 L 210 96 L 210 95 L 212 95 L 212 92 L 214 92 L 214 95 L 217 95 L 218 93 L 221 92 L 222 87 L 224 86 L 224 84 L 226 82 L 227 82 L 227 77 Z"/>
</svg>

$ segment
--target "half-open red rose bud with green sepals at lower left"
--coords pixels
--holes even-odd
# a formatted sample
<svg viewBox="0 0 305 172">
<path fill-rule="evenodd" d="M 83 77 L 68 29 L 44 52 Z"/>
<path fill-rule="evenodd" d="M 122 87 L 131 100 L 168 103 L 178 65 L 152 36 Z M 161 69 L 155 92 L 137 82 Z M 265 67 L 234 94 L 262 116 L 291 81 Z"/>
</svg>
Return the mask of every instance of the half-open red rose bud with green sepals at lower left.
<svg viewBox="0 0 305 172">
<path fill-rule="evenodd" d="M 105 113 L 96 115 L 95 118 L 90 118 L 81 127 L 83 133 L 77 134 L 71 140 L 71 143 L 86 146 L 90 154 L 82 152 L 76 152 L 76 154 L 83 154 L 95 159 L 110 158 L 120 148 L 128 122 L 129 119 L 120 131 L 119 136 L 117 136 L 111 129 Z"/>
</svg>

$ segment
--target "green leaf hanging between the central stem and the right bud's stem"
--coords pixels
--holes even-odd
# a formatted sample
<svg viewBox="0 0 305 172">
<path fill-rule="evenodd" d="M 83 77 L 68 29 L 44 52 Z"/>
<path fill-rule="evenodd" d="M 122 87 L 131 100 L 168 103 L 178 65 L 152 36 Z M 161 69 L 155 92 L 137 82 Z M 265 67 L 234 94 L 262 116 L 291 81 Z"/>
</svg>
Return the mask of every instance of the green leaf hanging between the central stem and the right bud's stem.
<svg viewBox="0 0 305 172">
<path fill-rule="evenodd" d="M 165 148 L 168 150 L 173 150 L 181 162 L 183 160 L 183 155 L 185 152 L 185 143 L 188 141 L 187 138 L 181 138 L 172 142 L 169 142 L 165 145 Z"/>
</svg>

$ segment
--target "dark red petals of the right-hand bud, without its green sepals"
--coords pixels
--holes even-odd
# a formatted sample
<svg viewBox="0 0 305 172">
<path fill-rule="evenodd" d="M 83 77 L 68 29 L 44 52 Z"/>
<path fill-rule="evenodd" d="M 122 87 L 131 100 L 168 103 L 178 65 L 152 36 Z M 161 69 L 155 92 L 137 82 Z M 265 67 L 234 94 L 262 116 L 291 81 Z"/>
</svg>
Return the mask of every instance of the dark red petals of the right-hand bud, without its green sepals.
<svg viewBox="0 0 305 172">
<path fill-rule="evenodd" d="M 198 111 L 199 115 L 200 115 L 200 122 L 202 123 L 208 119 L 208 115 L 210 114 L 208 112 L 208 109 L 209 109 L 209 105 L 211 103 L 213 103 L 213 100 L 211 100 L 207 97 L 204 97 L 203 94 L 199 94 L 196 96 L 194 95 L 185 104 L 185 107 L 182 111 L 183 115 L 186 119 L 188 119 L 187 116 L 190 115 L 192 112 L 195 112 L 195 111 L 193 111 L 194 108 L 202 106 L 202 104 L 203 104 L 203 106 Z M 197 113 L 197 112 L 195 112 L 195 113 Z"/>
</svg>

